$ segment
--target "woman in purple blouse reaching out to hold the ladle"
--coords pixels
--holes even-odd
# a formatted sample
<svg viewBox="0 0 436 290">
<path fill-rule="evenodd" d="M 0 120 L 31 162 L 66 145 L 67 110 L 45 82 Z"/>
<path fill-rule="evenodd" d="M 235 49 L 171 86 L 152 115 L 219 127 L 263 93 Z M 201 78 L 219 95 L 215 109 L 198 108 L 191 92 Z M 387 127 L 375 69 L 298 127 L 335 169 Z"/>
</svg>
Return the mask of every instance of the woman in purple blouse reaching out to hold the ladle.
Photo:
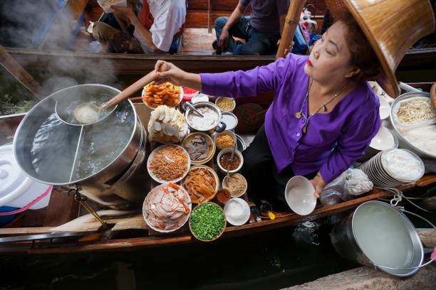
<svg viewBox="0 0 436 290">
<path fill-rule="evenodd" d="M 159 60 L 158 77 L 208 95 L 254 97 L 274 90 L 264 126 L 244 151 L 249 192 L 286 209 L 284 188 L 306 176 L 315 195 L 363 155 L 380 127 L 378 97 L 368 80 L 377 57 L 354 19 L 344 14 L 311 55 L 289 54 L 246 72 L 185 73 Z"/>
</svg>

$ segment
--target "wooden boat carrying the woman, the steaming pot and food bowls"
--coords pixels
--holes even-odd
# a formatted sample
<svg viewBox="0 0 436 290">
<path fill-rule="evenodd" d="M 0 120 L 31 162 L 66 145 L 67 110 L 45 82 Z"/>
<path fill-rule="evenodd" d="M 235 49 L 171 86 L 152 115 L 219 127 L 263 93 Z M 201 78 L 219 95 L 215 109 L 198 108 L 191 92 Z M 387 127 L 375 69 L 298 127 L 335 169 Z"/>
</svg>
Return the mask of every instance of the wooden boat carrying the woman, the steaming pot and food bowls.
<svg viewBox="0 0 436 290">
<path fill-rule="evenodd" d="M 415 87 L 430 89 L 428 83 L 412 84 Z M 254 102 L 254 99 L 249 99 Z M 264 99 L 265 100 L 265 99 Z M 16 114 L 13 116 L 0 117 L 0 145 L 9 143 L 14 136 L 14 131 L 25 114 Z M 248 136 L 248 135 L 247 135 Z M 430 186 L 436 183 L 436 174 L 427 174 L 415 183 L 409 183 L 401 186 L 401 190 L 408 190 L 416 187 Z M 328 215 L 334 215 L 356 208 L 361 203 L 368 200 L 387 197 L 392 193 L 373 189 L 369 193 L 360 195 L 354 200 L 349 200 L 336 205 L 318 205 L 310 215 L 301 216 L 296 213 L 279 216 L 275 220 L 261 220 L 256 222 L 252 219 L 246 225 L 230 226 L 228 225 L 222 238 L 234 237 L 240 235 L 251 235 L 256 232 L 273 230 L 279 227 L 296 225 L 300 222 L 316 220 Z M 46 208 L 40 210 L 26 210 L 24 213 L 16 215 L 14 220 L 8 225 L 0 228 L 0 238 L 18 235 L 37 235 L 56 232 L 53 227 L 63 225 L 63 231 L 68 228 L 65 224 L 76 218 L 87 214 L 85 209 L 74 200 L 73 195 L 53 190 L 50 202 Z M 121 217 L 105 219 L 111 227 L 109 230 L 102 230 L 100 225 L 93 217 L 88 222 L 93 223 L 94 228 L 88 227 L 81 230 L 79 237 L 61 237 L 61 238 L 33 238 L 22 242 L 2 243 L 0 247 L 1 254 L 55 254 L 55 253 L 75 253 L 75 252 L 96 252 L 96 251 L 115 251 L 115 250 L 133 250 L 155 246 L 169 246 L 188 242 L 198 242 L 190 234 L 190 230 L 185 225 L 181 230 L 171 234 L 160 234 L 149 230 L 145 224 L 141 212 L 123 214 Z M 80 222 L 78 222 L 80 224 Z M 95 224 L 97 224 L 95 226 Z M 78 225 L 73 227 L 77 230 Z M 79 225 L 80 227 L 80 225 Z M 58 229 L 60 230 L 60 229 Z M 96 230 L 99 230 L 96 232 Z M 70 230 L 71 231 L 71 230 Z M 68 232 L 68 231 L 67 231 Z"/>
</svg>

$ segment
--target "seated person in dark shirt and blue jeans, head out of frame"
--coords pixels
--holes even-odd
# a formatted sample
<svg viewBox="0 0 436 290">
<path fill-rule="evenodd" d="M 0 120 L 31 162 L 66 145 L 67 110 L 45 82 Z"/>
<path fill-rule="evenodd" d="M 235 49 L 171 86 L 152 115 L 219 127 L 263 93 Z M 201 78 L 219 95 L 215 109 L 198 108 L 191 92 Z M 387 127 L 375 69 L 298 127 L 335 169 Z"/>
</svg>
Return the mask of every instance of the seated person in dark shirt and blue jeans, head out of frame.
<svg viewBox="0 0 436 290">
<path fill-rule="evenodd" d="M 251 17 L 243 16 L 249 4 Z M 268 54 L 279 44 L 287 11 L 286 0 L 239 0 L 230 17 L 215 21 L 217 41 L 213 46 L 234 55 Z M 233 36 L 245 43 L 235 41 Z"/>
</svg>

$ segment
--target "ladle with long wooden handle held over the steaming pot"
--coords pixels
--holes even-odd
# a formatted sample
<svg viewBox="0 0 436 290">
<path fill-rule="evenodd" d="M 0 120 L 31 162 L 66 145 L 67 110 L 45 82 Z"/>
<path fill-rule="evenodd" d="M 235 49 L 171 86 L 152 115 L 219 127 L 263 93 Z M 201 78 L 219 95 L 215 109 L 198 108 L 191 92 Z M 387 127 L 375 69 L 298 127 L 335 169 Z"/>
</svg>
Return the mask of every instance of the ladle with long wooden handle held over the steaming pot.
<svg viewBox="0 0 436 290">
<path fill-rule="evenodd" d="M 78 104 L 76 106 L 76 108 L 74 109 L 74 117 L 76 118 L 77 122 L 79 122 L 79 124 L 68 122 L 67 116 L 64 113 L 64 111 L 66 110 L 65 104 L 61 104 L 60 102 L 56 102 L 55 112 L 58 115 L 58 118 L 61 119 L 62 122 L 66 123 L 68 125 L 83 126 L 83 125 L 95 124 L 95 123 L 103 121 L 103 119 L 106 119 L 115 110 L 116 104 L 127 99 L 134 92 L 137 92 L 138 90 L 142 89 L 142 87 L 147 85 L 149 82 L 152 82 L 153 80 L 156 80 L 156 79 L 157 79 L 157 75 L 156 75 L 155 70 L 153 70 L 152 72 L 148 73 L 144 77 L 140 78 L 140 80 L 137 80 L 136 82 L 134 82 L 133 85 L 130 85 L 129 87 L 127 87 L 125 90 L 123 90 L 123 92 L 120 92 L 118 95 L 116 95 L 112 99 L 104 102 L 100 106 L 98 106 L 96 104 L 92 104 L 90 102 L 83 102 L 81 104 Z M 71 102 L 68 104 L 71 104 Z M 97 117 L 93 118 L 92 120 L 88 120 L 86 118 L 83 118 L 81 116 L 81 114 L 79 114 L 79 112 L 85 108 L 93 110 L 94 112 L 98 111 Z M 108 113 L 103 114 L 103 116 L 102 116 L 101 113 L 103 111 L 108 111 Z M 100 117 L 100 116 L 102 116 L 102 117 Z"/>
</svg>

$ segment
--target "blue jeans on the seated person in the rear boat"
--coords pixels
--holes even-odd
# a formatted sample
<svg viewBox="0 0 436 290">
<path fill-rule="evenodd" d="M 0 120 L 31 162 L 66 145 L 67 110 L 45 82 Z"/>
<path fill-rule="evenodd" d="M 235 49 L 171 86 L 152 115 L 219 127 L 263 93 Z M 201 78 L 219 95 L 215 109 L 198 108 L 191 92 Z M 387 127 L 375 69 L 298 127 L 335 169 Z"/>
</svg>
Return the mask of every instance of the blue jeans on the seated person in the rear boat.
<svg viewBox="0 0 436 290">
<path fill-rule="evenodd" d="M 229 17 L 219 17 L 215 21 L 215 32 L 219 44 L 222 28 L 226 25 Z M 232 28 L 229 29 L 229 41 L 224 51 L 229 51 L 234 55 L 266 55 L 274 53 L 277 50 L 277 41 L 280 39 L 280 33 L 264 33 L 256 31 L 249 25 L 250 16 L 242 17 Z M 234 41 L 232 36 L 242 38 L 245 44 Z"/>
</svg>

